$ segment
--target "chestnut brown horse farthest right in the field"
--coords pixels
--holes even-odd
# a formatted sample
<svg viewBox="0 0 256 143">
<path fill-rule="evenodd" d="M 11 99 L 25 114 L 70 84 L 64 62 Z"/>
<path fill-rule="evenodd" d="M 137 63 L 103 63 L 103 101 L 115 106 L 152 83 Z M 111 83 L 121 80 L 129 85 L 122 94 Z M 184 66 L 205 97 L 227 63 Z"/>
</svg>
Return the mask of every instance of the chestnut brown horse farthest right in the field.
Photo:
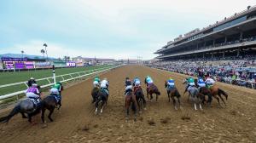
<svg viewBox="0 0 256 143">
<path fill-rule="evenodd" d="M 215 84 L 215 85 L 213 85 L 212 87 L 210 87 L 210 90 L 211 90 L 211 94 L 212 94 L 212 96 L 216 99 L 216 100 L 218 100 L 218 105 L 219 106 L 221 106 L 220 105 L 220 103 L 219 103 L 219 99 L 218 99 L 218 97 L 224 102 L 224 105 L 226 106 L 226 103 L 225 103 L 225 101 L 224 101 L 224 99 L 222 98 L 222 94 L 225 96 L 225 98 L 226 98 L 226 100 L 228 100 L 228 94 L 227 93 L 225 93 L 224 92 L 224 90 L 222 90 L 222 89 L 218 89 L 218 86 Z M 218 95 L 218 96 L 217 96 Z"/>
</svg>

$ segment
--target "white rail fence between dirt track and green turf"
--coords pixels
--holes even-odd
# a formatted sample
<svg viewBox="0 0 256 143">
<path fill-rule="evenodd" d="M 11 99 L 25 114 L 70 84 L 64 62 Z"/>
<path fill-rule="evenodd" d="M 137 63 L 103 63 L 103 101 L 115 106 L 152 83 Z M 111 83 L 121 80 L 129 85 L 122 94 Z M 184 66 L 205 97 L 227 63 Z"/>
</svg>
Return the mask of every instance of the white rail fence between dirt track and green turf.
<svg viewBox="0 0 256 143">
<path fill-rule="evenodd" d="M 94 69 L 94 70 L 90 70 L 90 71 L 85 71 L 85 72 L 73 72 L 73 73 L 69 73 L 69 74 L 63 74 L 63 75 L 56 76 L 56 77 L 62 77 L 62 80 L 60 82 L 61 83 L 65 83 L 65 82 L 71 81 L 73 79 L 78 79 L 78 78 L 81 78 L 81 77 L 90 76 L 90 75 L 93 75 L 93 74 L 96 74 L 96 73 L 99 73 L 99 72 L 107 72 L 109 70 L 112 70 L 112 69 L 118 68 L 118 67 L 120 67 L 120 66 L 103 67 L 103 68 L 98 68 L 98 69 Z M 79 76 L 78 77 L 73 77 L 72 75 L 74 75 L 74 74 L 79 74 Z M 64 79 L 64 76 L 70 76 L 70 78 Z M 45 78 L 37 79 L 37 82 L 38 81 L 42 81 L 42 80 L 47 80 L 49 82 L 49 84 L 42 85 L 41 86 L 42 89 L 47 88 L 47 87 L 49 87 L 49 86 L 54 84 L 54 83 L 50 82 L 50 80 L 53 80 L 53 77 L 45 77 Z M 1 88 L 6 88 L 6 87 L 10 87 L 10 86 L 14 86 L 14 85 L 19 85 L 19 84 L 26 84 L 26 83 L 27 82 L 20 82 L 20 83 L 9 83 L 9 84 L 5 84 L 5 85 L 0 85 L 0 89 Z M 26 84 L 26 87 L 28 87 L 27 84 Z M 8 99 L 8 98 L 14 97 L 14 96 L 17 96 L 17 100 L 18 100 L 19 99 L 18 98 L 19 94 L 24 94 L 24 90 L 17 91 L 17 92 L 11 93 L 11 94 L 0 95 L 0 100 Z"/>
</svg>

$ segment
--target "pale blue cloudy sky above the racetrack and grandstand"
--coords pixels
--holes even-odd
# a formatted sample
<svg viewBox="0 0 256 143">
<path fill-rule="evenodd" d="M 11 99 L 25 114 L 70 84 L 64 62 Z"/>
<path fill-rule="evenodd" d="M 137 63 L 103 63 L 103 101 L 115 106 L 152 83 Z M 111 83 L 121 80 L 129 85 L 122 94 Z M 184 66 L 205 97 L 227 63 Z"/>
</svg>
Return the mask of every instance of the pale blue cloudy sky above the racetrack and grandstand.
<svg viewBox="0 0 256 143">
<path fill-rule="evenodd" d="M 153 59 L 180 34 L 256 5 L 255 0 L 1 0 L 0 54 Z"/>
</svg>

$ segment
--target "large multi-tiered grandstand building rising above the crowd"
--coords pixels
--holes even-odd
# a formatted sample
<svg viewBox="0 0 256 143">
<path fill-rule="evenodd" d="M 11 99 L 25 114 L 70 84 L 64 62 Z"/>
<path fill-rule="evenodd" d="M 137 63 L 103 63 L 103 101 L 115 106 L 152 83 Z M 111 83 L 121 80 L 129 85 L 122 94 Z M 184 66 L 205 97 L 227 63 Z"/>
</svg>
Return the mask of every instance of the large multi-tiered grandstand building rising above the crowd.
<svg viewBox="0 0 256 143">
<path fill-rule="evenodd" d="M 159 60 L 255 57 L 256 6 L 180 35 L 154 54 Z"/>
</svg>

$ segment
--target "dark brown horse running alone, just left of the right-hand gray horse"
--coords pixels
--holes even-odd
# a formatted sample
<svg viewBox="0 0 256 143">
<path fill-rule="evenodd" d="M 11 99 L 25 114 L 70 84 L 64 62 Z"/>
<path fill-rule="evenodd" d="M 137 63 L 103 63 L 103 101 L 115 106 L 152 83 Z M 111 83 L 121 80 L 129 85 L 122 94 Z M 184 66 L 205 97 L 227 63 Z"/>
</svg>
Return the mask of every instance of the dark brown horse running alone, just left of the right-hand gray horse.
<svg viewBox="0 0 256 143">
<path fill-rule="evenodd" d="M 165 83 L 165 88 L 167 90 L 169 102 L 171 101 L 171 98 L 172 98 L 174 109 L 177 110 L 175 97 L 177 98 L 178 106 L 180 106 L 181 95 L 179 94 L 179 92 L 175 87 L 174 88 L 169 87 L 167 82 Z"/>
</svg>

